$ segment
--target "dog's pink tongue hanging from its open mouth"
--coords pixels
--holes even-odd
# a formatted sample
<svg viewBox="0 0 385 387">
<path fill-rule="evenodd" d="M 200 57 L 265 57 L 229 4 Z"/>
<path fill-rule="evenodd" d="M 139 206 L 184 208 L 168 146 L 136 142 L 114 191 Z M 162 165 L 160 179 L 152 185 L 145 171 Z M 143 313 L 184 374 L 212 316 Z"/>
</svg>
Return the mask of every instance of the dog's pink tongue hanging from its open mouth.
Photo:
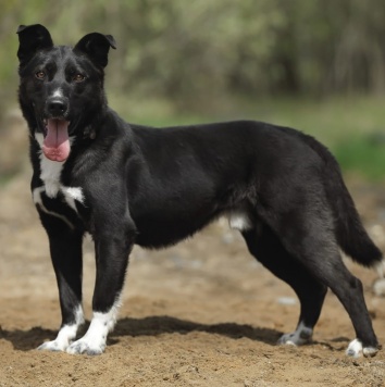
<svg viewBox="0 0 385 387">
<path fill-rule="evenodd" d="M 69 122 L 48 120 L 47 136 L 42 143 L 42 152 L 52 161 L 64 161 L 70 155 Z"/>
</svg>

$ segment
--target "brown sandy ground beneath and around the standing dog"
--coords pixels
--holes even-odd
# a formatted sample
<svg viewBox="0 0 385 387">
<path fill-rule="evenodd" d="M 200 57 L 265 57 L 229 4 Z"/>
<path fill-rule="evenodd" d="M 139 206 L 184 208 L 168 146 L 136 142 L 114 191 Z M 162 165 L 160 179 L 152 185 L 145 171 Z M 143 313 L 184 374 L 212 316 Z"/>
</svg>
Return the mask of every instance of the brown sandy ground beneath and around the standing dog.
<svg viewBox="0 0 385 387">
<path fill-rule="evenodd" d="M 60 323 L 47 239 L 28 191 L 29 171 L 0 190 L 0 386 L 385 386 L 385 350 L 350 359 L 350 321 L 328 294 L 314 342 L 276 346 L 297 322 L 294 292 L 246 251 L 225 222 L 163 251 L 135 248 L 124 303 L 100 357 L 37 351 Z M 385 251 L 385 190 L 350 185 Z M 364 284 L 385 344 L 385 298 L 374 272 L 348 262 Z M 92 246 L 85 241 L 90 316 Z"/>
</svg>

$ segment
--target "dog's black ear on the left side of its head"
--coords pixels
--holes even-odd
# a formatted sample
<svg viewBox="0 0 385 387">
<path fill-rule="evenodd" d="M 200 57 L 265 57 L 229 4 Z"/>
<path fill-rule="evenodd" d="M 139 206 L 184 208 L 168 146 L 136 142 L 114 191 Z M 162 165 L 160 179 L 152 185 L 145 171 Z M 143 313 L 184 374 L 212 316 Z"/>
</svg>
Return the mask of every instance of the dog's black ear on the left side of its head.
<svg viewBox="0 0 385 387">
<path fill-rule="evenodd" d="M 21 25 L 17 35 L 20 42 L 17 57 L 21 64 L 28 62 L 37 51 L 53 47 L 50 33 L 41 24 Z"/>
</svg>

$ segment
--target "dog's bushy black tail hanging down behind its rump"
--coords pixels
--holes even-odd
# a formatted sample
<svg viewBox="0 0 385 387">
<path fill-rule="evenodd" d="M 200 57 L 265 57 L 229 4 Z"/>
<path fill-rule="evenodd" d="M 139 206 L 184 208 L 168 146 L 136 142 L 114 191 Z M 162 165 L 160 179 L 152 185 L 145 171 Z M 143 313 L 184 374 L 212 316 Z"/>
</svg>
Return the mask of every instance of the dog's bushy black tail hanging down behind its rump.
<svg viewBox="0 0 385 387">
<path fill-rule="evenodd" d="M 326 164 L 325 188 L 334 212 L 336 238 L 341 250 L 363 266 L 376 266 L 378 273 L 385 264 L 381 250 L 364 229 L 353 200 L 343 180 L 339 165 L 333 154 L 314 138 L 307 136 L 309 146 Z M 382 267 L 382 269 L 381 269 Z"/>
</svg>

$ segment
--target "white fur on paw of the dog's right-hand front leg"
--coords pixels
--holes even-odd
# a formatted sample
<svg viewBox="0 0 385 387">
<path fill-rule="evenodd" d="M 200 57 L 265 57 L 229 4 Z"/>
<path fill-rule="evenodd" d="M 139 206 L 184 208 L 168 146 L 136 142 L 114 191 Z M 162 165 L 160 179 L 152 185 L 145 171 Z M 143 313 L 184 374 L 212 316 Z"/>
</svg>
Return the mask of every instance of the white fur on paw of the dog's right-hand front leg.
<svg viewBox="0 0 385 387">
<path fill-rule="evenodd" d="M 100 354 L 104 351 L 107 335 L 116 323 L 117 309 L 121 305 L 117 300 L 107 313 L 94 312 L 92 321 L 87 333 L 73 342 L 66 351 L 69 353 Z"/>
</svg>

